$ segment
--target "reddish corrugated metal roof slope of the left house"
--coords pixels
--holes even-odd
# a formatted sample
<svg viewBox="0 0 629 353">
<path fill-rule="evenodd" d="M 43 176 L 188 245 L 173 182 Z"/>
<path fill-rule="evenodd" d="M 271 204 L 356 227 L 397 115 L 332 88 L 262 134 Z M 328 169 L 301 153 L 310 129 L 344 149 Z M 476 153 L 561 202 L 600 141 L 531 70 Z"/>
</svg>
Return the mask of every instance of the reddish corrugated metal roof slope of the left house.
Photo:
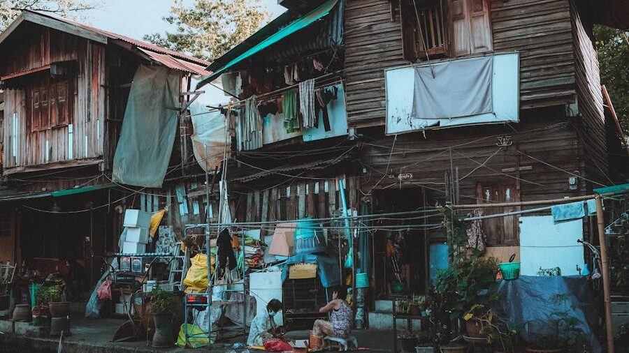
<svg viewBox="0 0 629 353">
<path fill-rule="evenodd" d="M 94 33 L 99 33 L 102 36 L 106 36 L 108 39 L 112 40 L 122 40 L 125 43 L 129 43 L 131 45 L 136 46 L 139 50 L 144 52 L 145 54 L 149 54 L 152 59 L 162 63 L 164 66 L 168 68 L 174 68 L 176 70 L 182 70 L 189 73 L 194 73 L 196 75 L 205 75 L 201 73 L 201 70 L 205 71 L 205 68 L 210 65 L 208 61 L 198 59 L 196 57 L 191 57 L 189 55 L 183 54 L 181 52 L 175 52 L 174 50 L 166 49 L 164 47 L 159 47 L 157 45 L 144 42 L 143 40 L 133 39 L 127 36 L 122 36 L 121 34 L 113 33 L 110 31 L 105 31 L 104 29 L 99 29 L 96 27 L 89 26 L 87 24 L 82 24 L 79 22 L 75 22 L 72 20 L 68 20 L 66 18 L 57 17 L 55 15 L 50 15 L 48 13 L 39 13 L 37 11 L 30 11 L 29 13 L 34 13 L 39 16 L 48 17 L 53 20 L 57 20 L 60 22 L 64 22 L 66 24 L 71 24 L 76 27 L 80 27 L 87 31 L 92 31 Z M 199 69 L 198 66 L 202 68 Z"/>
</svg>

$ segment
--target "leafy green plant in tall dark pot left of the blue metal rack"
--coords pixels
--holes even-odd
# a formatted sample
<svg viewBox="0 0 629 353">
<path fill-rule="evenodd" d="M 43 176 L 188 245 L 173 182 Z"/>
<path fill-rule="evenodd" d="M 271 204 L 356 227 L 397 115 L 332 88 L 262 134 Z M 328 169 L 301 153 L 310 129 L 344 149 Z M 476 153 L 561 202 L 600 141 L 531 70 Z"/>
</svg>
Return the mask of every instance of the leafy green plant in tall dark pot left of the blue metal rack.
<svg viewBox="0 0 629 353">
<path fill-rule="evenodd" d="M 151 313 L 155 324 L 153 347 L 173 345 L 173 293 L 155 287 L 150 294 Z"/>
</svg>

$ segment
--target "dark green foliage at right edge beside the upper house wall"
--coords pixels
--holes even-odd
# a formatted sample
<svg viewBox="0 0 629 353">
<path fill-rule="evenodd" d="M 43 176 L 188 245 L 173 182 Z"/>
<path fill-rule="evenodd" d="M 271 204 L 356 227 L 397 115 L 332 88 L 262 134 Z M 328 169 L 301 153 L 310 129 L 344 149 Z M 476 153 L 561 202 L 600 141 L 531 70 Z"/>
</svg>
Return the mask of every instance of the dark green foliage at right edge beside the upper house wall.
<svg viewBox="0 0 629 353">
<path fill-rule="evenodd" d="M 627 132 L 629 131 L 629 40 L 627 33 L 597 25 L 594 27 L 594 37 L 600 66 L 600 82 L 607 87 L 616 114 Z"/>
</svg>

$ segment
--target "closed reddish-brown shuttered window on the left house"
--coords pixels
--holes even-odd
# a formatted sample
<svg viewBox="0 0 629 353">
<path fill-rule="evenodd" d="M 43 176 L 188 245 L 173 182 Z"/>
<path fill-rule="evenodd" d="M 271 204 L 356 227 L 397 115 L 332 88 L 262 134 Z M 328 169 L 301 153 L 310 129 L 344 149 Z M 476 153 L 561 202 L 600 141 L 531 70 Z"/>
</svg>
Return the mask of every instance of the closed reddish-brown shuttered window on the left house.
<svg viewBox="0 0 629 353">
<path fill-rule="evenodd" d="M 31 130 L 46 130 L 71 122 L 71 83 L 46 77 L 27 88 Z"/>
</svg>

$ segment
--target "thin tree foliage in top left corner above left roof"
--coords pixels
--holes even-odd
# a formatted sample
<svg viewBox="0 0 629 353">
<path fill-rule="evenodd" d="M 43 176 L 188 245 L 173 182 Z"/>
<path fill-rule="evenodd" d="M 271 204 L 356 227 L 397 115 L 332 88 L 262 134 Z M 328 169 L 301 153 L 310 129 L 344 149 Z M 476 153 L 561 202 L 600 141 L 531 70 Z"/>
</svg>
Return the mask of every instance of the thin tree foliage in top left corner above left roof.
<svg viewBox="0 0 629 353">
<path fill-rule="evenodd" d="M 4 31 L 23 10 L 76 17 L 98 6 L 99 3 L 89 0 L 0 0 L 0 31 Z"/>
</svg>

